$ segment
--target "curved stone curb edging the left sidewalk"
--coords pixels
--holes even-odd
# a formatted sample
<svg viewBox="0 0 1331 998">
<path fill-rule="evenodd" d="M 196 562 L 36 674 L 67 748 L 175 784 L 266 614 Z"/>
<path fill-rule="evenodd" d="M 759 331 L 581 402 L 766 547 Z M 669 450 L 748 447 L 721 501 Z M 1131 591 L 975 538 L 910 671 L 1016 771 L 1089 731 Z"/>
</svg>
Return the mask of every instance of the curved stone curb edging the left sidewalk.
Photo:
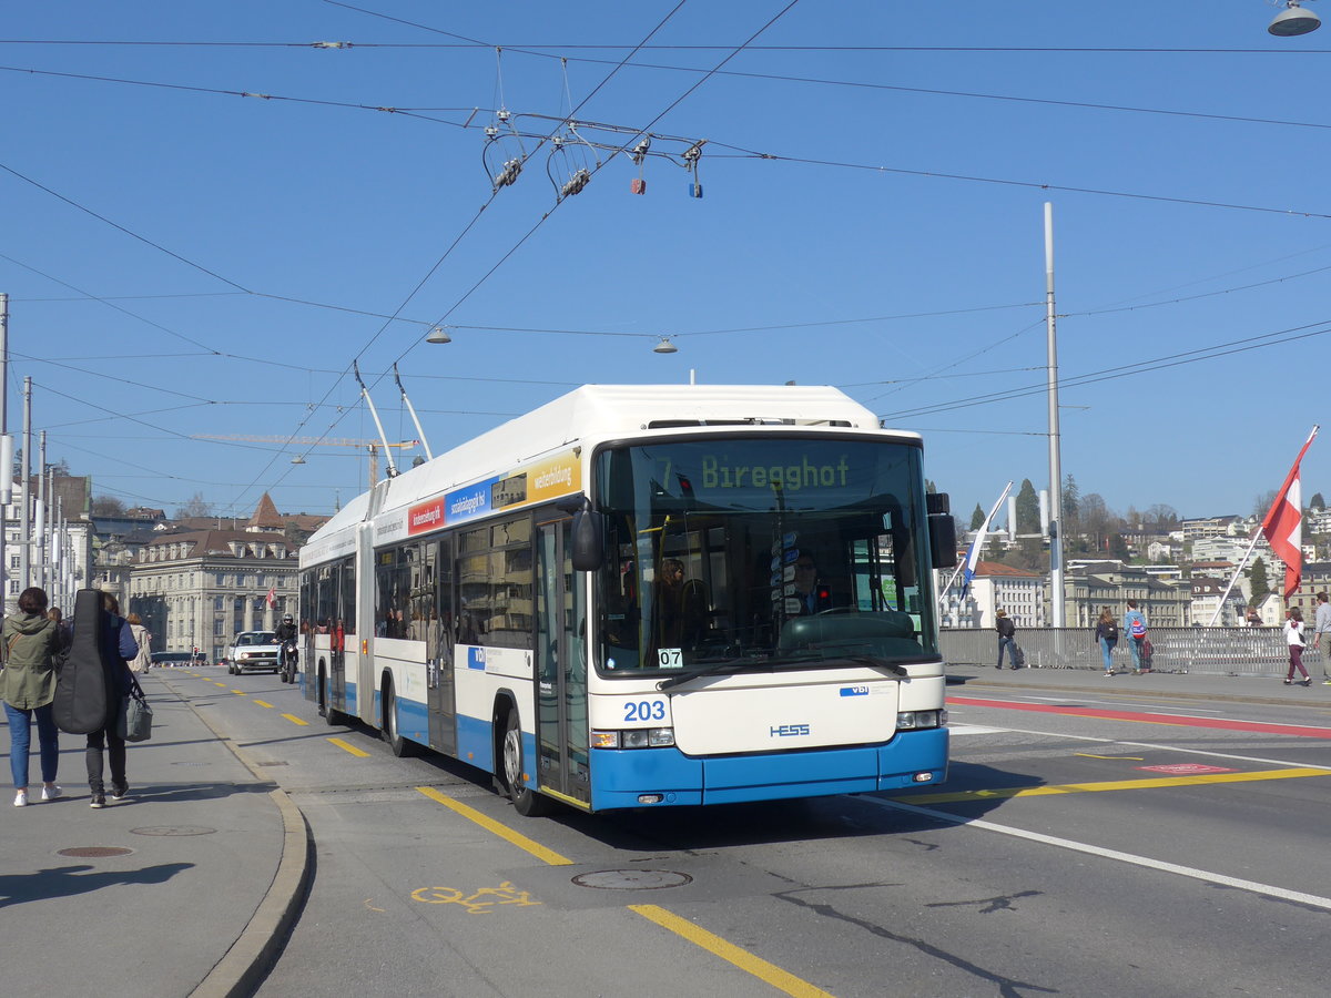
<svg viewBox="0 0 1331 998">
<path fill-rule="evenodd" d="M 172 692 L 176 689 L 172 687 Z M 212 721 L 200 713 L 194 704 L 182 703 L 204 723 L 213 737 L 221 741 L 260 782 L 272 784 L 272 778 L 260 770 L 240 745 L 213 727 Z M 282 857 L 277 873 L 269 884 L 264 900 L 249 923 L 232 943 L 226 954 L 213 965 L 208 975 L 189 993 L 189 998 L 244 998 L 250 995 L 264 977 L 277 962 L 286 945 L 286 937 L 295 925 L 295 918 L 305 904 L 314 877 L 314 837 L 301 809 L 291 802 L 286 790 L 274 788 L 269 800 L 282 817 Z"/>
</svg>

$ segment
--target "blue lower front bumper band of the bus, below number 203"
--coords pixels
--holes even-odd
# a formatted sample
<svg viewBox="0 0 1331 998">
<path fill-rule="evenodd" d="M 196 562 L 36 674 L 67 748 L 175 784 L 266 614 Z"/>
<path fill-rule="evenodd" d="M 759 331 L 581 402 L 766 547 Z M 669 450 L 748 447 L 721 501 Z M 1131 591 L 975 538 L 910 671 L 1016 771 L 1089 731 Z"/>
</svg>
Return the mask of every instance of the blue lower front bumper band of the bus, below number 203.
<svg viewBox="0 0 1331 998">
<path fill-rule="evenodd" d="M 885 745 L 699 758 L 679 749 L 592 749 L 591 805 L 638 808 L 639 794 L 667 805 L 731 804 L 918 786 L 914 774 L 948 769 L 948 731 L 902 732 Z"/>
</svg>

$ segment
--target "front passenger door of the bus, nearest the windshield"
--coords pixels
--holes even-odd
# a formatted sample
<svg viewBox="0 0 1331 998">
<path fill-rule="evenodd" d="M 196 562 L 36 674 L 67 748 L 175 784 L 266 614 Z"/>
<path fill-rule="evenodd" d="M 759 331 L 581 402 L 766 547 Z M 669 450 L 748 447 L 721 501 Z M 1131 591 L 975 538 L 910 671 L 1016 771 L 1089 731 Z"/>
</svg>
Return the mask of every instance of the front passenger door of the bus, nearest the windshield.
<svg viewBox="0 0 1331 998">
<path fill-rule="evenodd" d="M 536 780 L 591 802 L 587 770 L 587 608 L 572 567 L 572 519 L 540 522 L 536 534 Z"/>
</svg>

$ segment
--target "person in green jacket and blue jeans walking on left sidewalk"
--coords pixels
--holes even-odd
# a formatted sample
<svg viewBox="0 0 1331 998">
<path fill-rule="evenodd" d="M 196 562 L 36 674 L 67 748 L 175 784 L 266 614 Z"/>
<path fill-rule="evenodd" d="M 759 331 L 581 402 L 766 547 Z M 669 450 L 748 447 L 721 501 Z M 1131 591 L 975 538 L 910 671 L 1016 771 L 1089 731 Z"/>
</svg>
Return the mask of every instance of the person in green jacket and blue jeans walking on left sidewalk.
<svg viewBox="0 0 1331 998">
<path fill-rule="evenodd" d="M 36 585 L 19 593 L 19 612 L 5 617 L 0 628 L 5 667 L 0 673 L 0 700 L 9 719 L 9 769 L 13 772 L 13 805 L 28 804 L 28 753 L 32 744 L 32 717 L 37 719 L 41 745 L 41 800 L 61 794 L 56 786 L 60 764 L 60 732 L 51 716 L 56 699 L 56 652 L 64 647 L 64 632 L 47 617 L 47 593 Z"/>
</svg>

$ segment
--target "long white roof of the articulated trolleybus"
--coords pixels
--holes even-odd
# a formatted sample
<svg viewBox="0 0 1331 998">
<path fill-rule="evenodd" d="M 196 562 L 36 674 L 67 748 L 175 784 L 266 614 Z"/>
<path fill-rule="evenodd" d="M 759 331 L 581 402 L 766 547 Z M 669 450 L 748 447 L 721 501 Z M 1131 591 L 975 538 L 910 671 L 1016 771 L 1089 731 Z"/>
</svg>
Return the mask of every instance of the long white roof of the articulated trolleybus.
<svg viewBox="0 0 1331 998">
<path fill-rule="evenodd" d="M 877 431 L 878 418 L 843 391 L 809 385 L 584 385 L 475 436 L 434 460 L 379 483 L 375 512 L 402 510 L 422 499 L 490 475 L 503 474 L 543 454 L 575 444 L 638 436 L 683 427 L 724 430 L 740 424 L 769 427 L 844 427 Z M 918 440 L 918 434 L 893 432 Z M 370 512 L 362 494 L 333 516 L 302 552 L 302 564 L 334 554 L 321 542 L 361 523 Z M 341 544 L 338 546 L 341 547 Z"/>
</svg>

